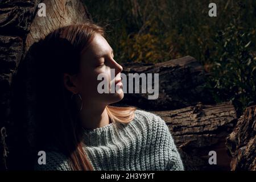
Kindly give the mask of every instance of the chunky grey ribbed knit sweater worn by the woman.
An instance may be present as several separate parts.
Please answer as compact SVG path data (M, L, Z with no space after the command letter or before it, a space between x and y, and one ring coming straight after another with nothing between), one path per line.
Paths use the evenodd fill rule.
M128 124L110 123L84 131L84 152L94 170L184 170L179 152L166 123L158 115L135 110ZM46 164L36 170L71 170L67 158L46 151Z

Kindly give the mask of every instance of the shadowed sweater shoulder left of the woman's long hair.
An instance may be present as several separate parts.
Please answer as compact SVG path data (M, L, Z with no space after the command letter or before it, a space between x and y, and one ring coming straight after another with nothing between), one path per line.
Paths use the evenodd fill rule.
M34 169L36 171L68 171L71 170L68 158L61 152L46 151L45 164L39 164L40 156L35 160Z

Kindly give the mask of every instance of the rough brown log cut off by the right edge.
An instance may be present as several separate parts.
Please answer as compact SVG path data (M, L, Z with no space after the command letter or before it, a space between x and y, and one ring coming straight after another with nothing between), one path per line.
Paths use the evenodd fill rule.
M226 139L226 146L232 155L230 168L235 170L256 170L256 106L247 107L238 119L234 131Z

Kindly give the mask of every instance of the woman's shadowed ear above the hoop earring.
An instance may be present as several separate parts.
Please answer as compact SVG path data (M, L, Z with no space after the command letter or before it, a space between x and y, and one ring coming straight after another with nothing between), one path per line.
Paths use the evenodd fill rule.
M63 82L67 90L69 90L73 94L79 93L76 75L69 75L68 73L64 73Z

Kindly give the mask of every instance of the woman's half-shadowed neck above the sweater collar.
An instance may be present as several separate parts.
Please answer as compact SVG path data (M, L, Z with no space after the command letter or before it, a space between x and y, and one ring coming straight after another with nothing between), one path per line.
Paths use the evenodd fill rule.
M80 111L80 121L84 129L96 129L109 125L110 119L106 106L89 106Z

